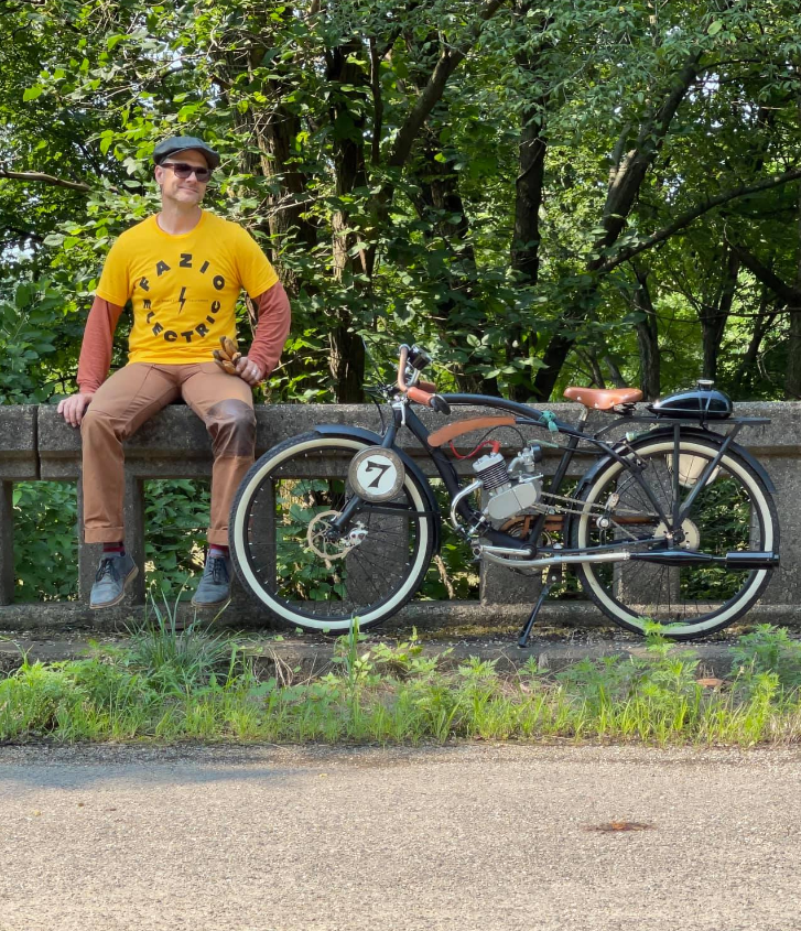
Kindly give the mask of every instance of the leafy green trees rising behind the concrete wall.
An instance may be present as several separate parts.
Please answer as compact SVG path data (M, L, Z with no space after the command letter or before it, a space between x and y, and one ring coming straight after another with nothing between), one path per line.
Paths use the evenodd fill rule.
M410 338L442 387L519 399L801 391L790 0L41 0L0 30L6 403L72 389L102 257L156 208L153 145L195 131L224 159L209 206L291 292L272 399L360 400Z

